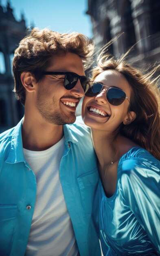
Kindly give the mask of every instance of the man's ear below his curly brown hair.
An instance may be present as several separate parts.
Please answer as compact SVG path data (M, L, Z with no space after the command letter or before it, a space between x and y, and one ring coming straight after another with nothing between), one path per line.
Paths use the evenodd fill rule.
M31 72L22 72L20 79L26 91L35 91L36 79Z

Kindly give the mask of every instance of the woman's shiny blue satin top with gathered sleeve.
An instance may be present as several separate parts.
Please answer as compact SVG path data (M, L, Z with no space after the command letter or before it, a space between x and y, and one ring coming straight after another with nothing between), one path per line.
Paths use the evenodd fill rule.
M129 150L112 197L99 181L93 213L104 256L160 255L160 161L145 149Z

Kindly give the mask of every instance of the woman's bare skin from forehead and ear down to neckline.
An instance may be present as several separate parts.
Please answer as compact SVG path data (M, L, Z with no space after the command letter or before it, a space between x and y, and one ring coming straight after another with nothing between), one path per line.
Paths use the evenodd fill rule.
M96 76L94 81L106 86L95 97L84 97L82 118L85 124L91 127L94 148L99 159L101 180L106 195L110 197L116 189L117 167L120 157L130 148L137 146L133 141L120 135L119 126L122 123L125 125L131 123L136 118L136 114L129 112L127 99L119 106L113 106L107 101L107 86L123 90L130 99L131 86L120 72L106 70ZM90 107L99 109L105 116L90 112ZM114 163L111 164L111 162Z

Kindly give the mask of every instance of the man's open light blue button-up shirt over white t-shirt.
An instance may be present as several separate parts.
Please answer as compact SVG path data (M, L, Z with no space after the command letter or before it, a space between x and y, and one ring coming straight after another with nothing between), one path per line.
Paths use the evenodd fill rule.
M36 198L36 179L23 154L22 120L0 135L0 256L23 256ZM81 256L99 256L92 203L99 180L90 131L64 126L60 180Z

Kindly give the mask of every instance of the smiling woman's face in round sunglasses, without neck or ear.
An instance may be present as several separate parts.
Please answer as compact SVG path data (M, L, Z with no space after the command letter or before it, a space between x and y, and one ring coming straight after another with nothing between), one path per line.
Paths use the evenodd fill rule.
M106 70L96 76L99 83L109 87L123 90L130 101L131 86L125 77L116 70ZM82 118L91 128L114 132L128 117L129 101L125 99L119 106L113 106L107 101L108 87L94 97L84 97L82 105ZM98 111L99 110L99 111Z

